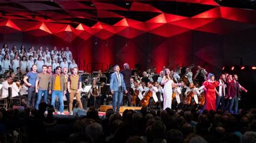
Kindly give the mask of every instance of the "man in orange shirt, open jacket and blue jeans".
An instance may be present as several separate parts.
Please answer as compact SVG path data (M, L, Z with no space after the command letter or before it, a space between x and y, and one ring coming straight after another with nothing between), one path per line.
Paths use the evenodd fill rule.
M58 115L64 115L64 101L63 96L66 94L66 80L65 76L60 74L62 69L58 66L56 67L56 74L52 75L49 84L49 94L52 93L51 105L55 105L56 97L59 98L60 108L57 112Z

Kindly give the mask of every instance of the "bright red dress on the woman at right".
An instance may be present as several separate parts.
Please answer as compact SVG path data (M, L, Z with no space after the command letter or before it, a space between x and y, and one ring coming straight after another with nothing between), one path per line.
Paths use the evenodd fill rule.
M203 85L206 88L206 106L205 109L207 109L208 111L210 110L214 110L215 111L215 104L216 104L216 95L215 95L215 87L219 86L219 82L218 81L205 81L203 83Z

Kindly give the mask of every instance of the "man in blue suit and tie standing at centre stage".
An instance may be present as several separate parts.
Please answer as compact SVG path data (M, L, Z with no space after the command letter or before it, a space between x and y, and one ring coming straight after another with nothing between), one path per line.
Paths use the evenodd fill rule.
M123 92L127 93L124 76L119 73L120 67L118 65L114 66L114 73L110 77L110 90L113 94L113 110L119 113L120 104L122 103ZM117 106L117 110L116 110Z

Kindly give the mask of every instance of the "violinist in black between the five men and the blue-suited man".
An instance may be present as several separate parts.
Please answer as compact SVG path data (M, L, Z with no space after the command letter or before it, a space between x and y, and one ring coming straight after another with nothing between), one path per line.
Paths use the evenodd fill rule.
M92 80L92 88L90 90L90 106L94 106L95 108L98 108L99 107L99 87L98 85L96 84L96 80L93 79Z

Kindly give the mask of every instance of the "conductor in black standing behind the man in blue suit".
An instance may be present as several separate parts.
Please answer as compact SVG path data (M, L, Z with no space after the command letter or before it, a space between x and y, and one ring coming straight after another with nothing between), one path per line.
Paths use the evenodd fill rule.
M131 106L131 83L130 83L130 78L132 76L132 71L130 69L130 66L128 65L128 63L124 63L124 70L121 71L121 74L124 75L124 83L125 83L125 87L127 90L127 102L128 102L128 106ZM125 103L125 98L123 98L123 104Z

